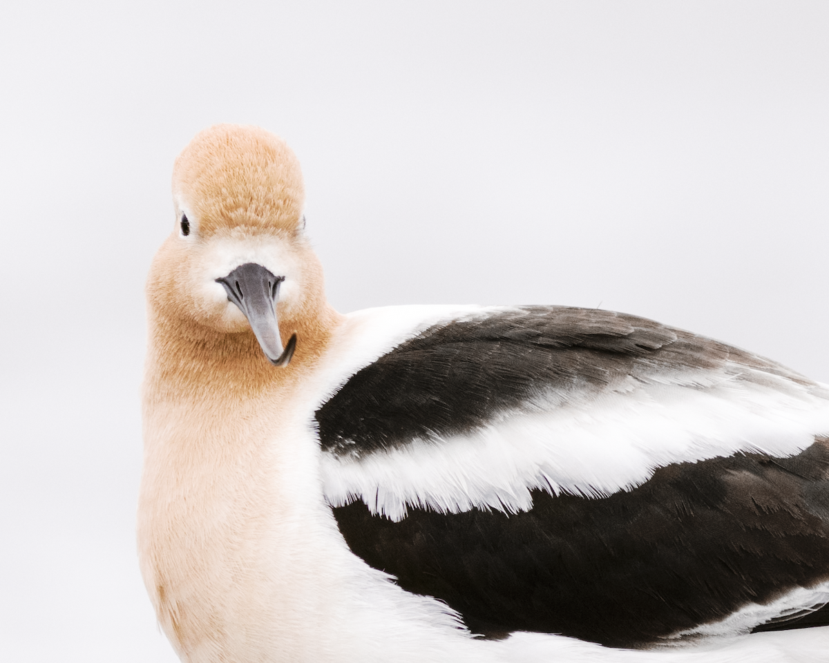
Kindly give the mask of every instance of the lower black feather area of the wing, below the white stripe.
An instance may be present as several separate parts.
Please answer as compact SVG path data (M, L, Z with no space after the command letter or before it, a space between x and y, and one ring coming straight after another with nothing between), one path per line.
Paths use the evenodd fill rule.
M678 463L601 499L534 491L511 515L413 509L393 522L360 501L334 515L355 554L473 632L647 646L829 578L827 444Z

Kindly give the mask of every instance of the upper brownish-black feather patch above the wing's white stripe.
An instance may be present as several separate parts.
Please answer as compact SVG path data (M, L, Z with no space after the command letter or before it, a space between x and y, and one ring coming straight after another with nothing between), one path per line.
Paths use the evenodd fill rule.
M628 376L648 382L724 368L734 380L784 376L817 387L772 361L641 317L521 307L427 329L357 371L315 416L324 451L362 457L469 433L507 411L591 399Z

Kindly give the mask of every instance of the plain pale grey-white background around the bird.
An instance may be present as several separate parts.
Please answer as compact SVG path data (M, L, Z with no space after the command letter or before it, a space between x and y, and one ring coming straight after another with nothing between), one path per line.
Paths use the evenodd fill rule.
M174 661L135 561L143 279L217 122L342 311L638 313L829 381L827 2L0 8L0 659Z

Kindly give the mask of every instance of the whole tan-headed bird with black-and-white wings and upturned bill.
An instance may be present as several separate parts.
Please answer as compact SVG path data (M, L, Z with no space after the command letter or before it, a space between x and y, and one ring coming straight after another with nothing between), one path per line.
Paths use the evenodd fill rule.
M829 386L602 309L343 315L263 128L172 194L138 558L182 661L829 656Z

